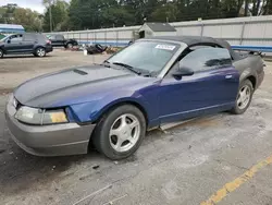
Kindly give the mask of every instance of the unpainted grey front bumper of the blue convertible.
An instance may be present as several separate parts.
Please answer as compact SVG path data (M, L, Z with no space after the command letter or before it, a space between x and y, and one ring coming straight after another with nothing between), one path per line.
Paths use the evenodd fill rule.
M15 112L15 107L9 101L5 109L8 126L14 142L25 152L37 156L78 155L88 152L95 124L26 125L14 118Z

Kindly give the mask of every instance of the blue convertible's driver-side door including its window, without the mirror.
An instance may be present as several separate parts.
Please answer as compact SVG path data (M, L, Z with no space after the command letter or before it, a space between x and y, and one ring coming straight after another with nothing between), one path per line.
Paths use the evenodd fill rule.
M228 50L208 47L186 52L161 82L161 122L226 110L235 104L239 74L232 65ZM189 68L194 74L174 77L175 70L183 68Z

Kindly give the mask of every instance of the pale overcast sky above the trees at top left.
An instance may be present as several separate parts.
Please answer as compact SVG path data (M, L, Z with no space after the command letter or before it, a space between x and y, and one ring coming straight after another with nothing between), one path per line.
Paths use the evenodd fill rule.
M0 7L7 5L8 3L16 3L21 8L29 8L39 13L44 13L45 7L42 5L41 1L42 0L0 0Z

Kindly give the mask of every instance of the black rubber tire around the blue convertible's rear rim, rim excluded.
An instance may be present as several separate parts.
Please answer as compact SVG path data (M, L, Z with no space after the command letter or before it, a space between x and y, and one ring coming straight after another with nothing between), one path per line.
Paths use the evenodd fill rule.
M249 94L249 99L248 99L247 104L242 107L240 104L238 102L238 98L239 98L239 93L245 87L248 87L248 91L250 92L250 94ZM249 80L243 81L240 83L240 85L239 85L239 89L238 89L238 93L237 93L235 106L231 110L231 112L234 113L234 114L242 114L242 113L244 113L248 109L248 107L250 106L250 102L251 102L251 99L252 99L252 95L254 95L252 83Z

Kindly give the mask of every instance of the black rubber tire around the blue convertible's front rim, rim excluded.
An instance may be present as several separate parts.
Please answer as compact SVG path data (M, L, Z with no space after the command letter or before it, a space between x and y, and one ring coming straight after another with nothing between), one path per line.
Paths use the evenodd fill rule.
M110 130L113 126L113 124L116 122L116 120L123 116L123 114L133 114L137 118L139 122L139 137L136 141L136 143L133 145L129 150L126 152L116 152L112 145L110 140ZM129 157L133 155L138 147L140 146L144 137L146 135L146 119L143 114L143 112L132 105L123 105L120 107L116 107L109 112L107 112L98 122L94 135L92 135L92 143L97 150L108 158L112 160L120 160ZM121 145L122 146L122 145Z

